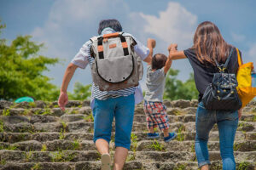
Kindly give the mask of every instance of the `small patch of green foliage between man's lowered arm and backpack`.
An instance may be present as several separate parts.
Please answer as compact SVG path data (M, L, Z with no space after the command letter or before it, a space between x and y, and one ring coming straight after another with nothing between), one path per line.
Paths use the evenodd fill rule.
M80 82L74 84L73 94L68 93L68 99L84 100L90 97L91 85L83 85Z

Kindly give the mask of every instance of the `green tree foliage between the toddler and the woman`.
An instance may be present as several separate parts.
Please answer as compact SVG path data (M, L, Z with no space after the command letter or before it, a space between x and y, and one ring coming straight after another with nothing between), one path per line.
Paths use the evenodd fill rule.
M195 88L194 75L190 73L189 79L182 82L177 79L178 72L173 69L168 71L164 99L197 99L198 91Z

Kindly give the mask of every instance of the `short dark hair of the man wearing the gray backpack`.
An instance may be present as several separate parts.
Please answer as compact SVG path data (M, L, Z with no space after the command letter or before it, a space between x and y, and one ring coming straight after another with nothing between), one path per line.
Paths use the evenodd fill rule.
M123 31L123 28L118 20L101 20L99 24L98 34L101 35L104 28L112 28L114 31Z

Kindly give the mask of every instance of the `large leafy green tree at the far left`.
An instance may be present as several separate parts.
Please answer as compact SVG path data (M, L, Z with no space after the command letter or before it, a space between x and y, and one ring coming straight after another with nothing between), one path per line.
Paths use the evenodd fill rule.
M4 27L0 20L0 36ZM0 99L58 98L59 90L43 72L48 71L47 65L55 65L59 59L39 55L42 47L43 44L32 42L31 36L18 36L10 44L0 37Z

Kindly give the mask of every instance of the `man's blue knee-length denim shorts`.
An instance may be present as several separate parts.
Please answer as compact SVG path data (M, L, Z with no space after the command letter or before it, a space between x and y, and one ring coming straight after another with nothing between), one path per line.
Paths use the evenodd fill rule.
M135 107L134 102L134 94L105 100L95 99L95 105L93 108L93 141L96 142L97 139L105 139L109 143L114 117L115 147L124 147L130 150L131 129Z

